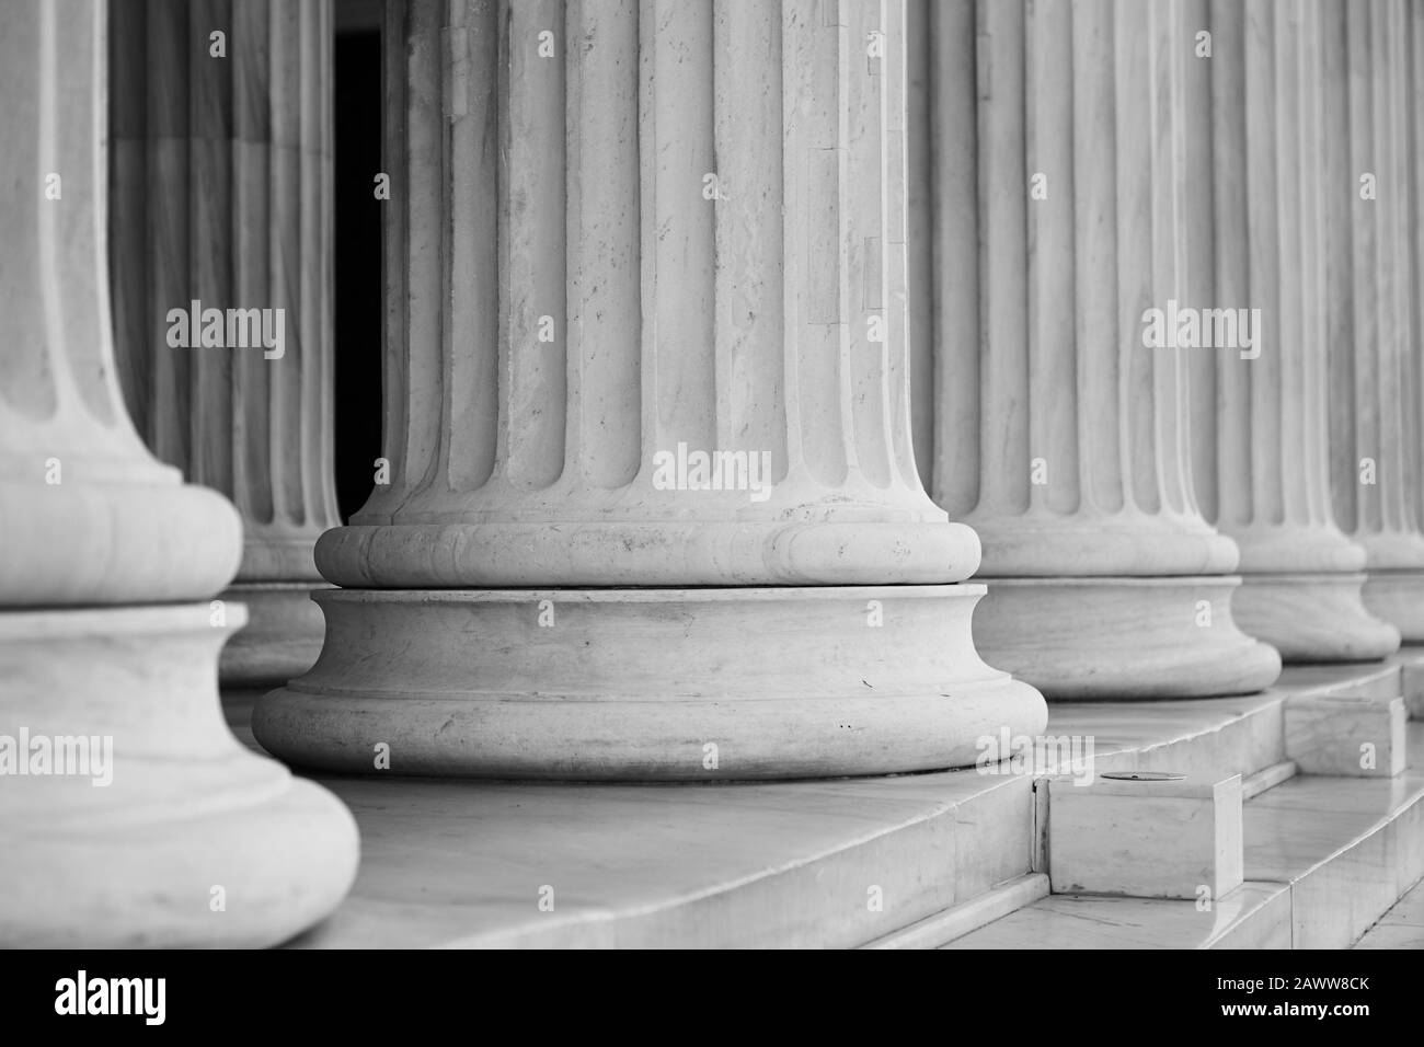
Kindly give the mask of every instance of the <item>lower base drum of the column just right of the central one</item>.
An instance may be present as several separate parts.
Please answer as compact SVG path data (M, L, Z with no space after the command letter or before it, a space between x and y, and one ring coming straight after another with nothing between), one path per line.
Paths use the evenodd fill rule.
M980 652L1048 699L1253 694L1280 675L1232 620L1235 575L984 581Z

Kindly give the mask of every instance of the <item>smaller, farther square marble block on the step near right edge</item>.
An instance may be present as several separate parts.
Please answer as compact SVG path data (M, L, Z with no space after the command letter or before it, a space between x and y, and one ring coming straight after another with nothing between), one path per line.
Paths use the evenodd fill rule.
M1303 695L1284 712L1286 756L1300 773L1393 778L1408 765L1403 698Z

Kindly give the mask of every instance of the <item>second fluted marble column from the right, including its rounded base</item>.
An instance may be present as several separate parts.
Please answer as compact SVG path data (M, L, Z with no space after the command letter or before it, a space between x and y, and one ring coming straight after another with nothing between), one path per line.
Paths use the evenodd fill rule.
M1400 634L1361 603L1366 554L1330 500L1324 9L1218 0L1192 16L1213 50L1188 63L1183 298L1237 328L1235 348L1193 358L1202 510L1240 548L1243 630L1286 661L1383 658Z

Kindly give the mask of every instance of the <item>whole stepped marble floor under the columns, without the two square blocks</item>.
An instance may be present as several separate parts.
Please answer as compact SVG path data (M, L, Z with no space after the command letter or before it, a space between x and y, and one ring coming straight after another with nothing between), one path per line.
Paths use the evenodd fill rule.
M1208 912L1044 897L1042 796L1024 775L745 785L322 775L360 826L360 872L335 916L290 944L1344 947L1424 873L1424 772L1294 776L1280 711L1323 684L1370 689L1378 672L1297 671L1249 698L1054 707L1049 732L1094 732L1099 769L1166 761L1269 778L1246 805L1246 883ZM225 694L234 732L253 748L255 697ZM1410 725L1410 748L1424 768L1424 725ZM1398 926L1371 933L1403 940L1411 924Z

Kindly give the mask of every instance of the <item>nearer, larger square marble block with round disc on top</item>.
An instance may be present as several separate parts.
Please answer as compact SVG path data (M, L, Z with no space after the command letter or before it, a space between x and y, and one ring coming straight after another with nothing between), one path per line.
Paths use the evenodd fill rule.
M1240 775L1111 773L1138 778L1049 779L1054 893L1215 900L1240 886Z

